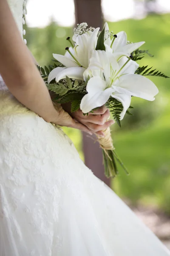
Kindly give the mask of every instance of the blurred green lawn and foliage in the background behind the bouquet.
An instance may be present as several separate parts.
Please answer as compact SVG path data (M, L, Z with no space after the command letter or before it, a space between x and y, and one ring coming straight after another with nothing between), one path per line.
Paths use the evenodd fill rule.
M146 56L139 64L153 66L170 76L170 14L150 14L142 20L123 20L109 23L116 34L125 30L131 42L146 41L142 49L149 49L154 58ZM41 66L51 63L52 53L64 54L66 38L72 36L71 27L51 24L43 29L27 28L27 44ZM134 116L126 116L122 128L113 125L114 145L129 169L127 176L119 169L112 182L115 192L128 198L131 204L159 207L170 215L170 79L152 78L159 94L154 102L133 97ZM79 131L64 128L83 159Z

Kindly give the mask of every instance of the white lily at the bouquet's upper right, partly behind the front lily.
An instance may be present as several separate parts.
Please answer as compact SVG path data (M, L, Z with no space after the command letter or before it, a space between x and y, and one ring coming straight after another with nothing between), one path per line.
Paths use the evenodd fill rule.
M129 55L142 46L145 42L138 42L138 43L130 43L127 44L127 34L124 31L121 31L116 34L117 37L113 37L111 40L110 37L108 37L109 34L109 27L108 23L105 23L105 46L106 49L110 47L112 49L113 53L118 53L121 55L121 53L124 53L125 55ZM109 50L109 49L108 49Z

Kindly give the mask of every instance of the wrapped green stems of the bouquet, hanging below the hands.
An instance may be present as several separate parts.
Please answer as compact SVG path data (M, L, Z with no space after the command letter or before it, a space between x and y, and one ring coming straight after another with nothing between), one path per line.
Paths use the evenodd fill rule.
M119 162L119 164L123 167L125 172L128 174L126 167L123 165L122 161L118 157L115 152L115 148L113 146L113 140L111 137L111 129L107 128L103 131L105 137L97 137L97 141L102 148L103 154L103 163L105 167L105 176L106 177L115 177L118 173L115 159Z

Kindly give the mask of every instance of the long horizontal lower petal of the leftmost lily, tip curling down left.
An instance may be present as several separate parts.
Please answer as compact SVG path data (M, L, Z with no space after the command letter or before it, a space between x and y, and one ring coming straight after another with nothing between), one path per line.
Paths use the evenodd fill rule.
M72 79L83 80L83 73L85 72L84 67L69 67L62 70L56 76L56 82L64 79L66 76Z

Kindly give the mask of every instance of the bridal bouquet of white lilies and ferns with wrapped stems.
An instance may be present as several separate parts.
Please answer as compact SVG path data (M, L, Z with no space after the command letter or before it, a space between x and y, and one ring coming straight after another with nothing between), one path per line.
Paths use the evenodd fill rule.
M153 101L158 93L156 85L146 76L161 76L163 73L152 67L139 67L136 61L148 50L139 50L145 42L127 41L125 32L116 35L109 32L105 23L102 32L99 28L88 28L87 23L77 24L74 36L67 38L71 47L65 55L53 54L57 63L54 66L38 67L48 90L56 93L58 103L71 102L71 111L79 108L84 114L106 104L113 118L120 126L125 113L130 114L131 97ZM117 174L115 159L127 169L113 147L110 128L104 131L105 137L98 137L103 152L105 175Z

